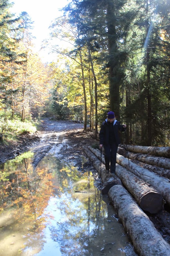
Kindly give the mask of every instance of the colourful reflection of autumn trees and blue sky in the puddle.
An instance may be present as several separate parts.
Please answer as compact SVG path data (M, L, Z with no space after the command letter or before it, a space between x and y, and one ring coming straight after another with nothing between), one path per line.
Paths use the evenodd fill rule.
M22 230L20 235L23 235L24 230L20 249L41 251L45 243L43 230L50 226L47 222L53 220L51 238L60 244L62 253L86 255L88 242L104 230L104 216L107 215L100 192L94 189L91 172L82 174L76 167L61 164L55 157L50 157L49 161L44 158L33 170L31 159L23 155L8 161L0 171L4 177L0 182L1 205L4 212L15 209L12 212L14 221L6 228L7 235L13 230L18 233ZM74 190L87 193L75 193ZM51 196L56 199L55 207L62 216L60 221L51 215L51 209L48 211Z

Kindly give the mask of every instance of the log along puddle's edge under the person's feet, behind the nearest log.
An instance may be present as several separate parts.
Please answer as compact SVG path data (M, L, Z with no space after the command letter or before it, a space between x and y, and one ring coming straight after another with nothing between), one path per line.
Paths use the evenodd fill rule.
M98 155L99 152L97 152L94 148L91 148L96 155ZM116 185L116 184L122 184L121 180L114 174L109 174L105 170L105 165L87 148L83 148L85 154L89 158L89 160L93 163L93 166L97 170L99 176L101 177L101 181L103 183L101 192L103 194L107 194L109 192L109 189ZM100 157L100 156L99 156Z

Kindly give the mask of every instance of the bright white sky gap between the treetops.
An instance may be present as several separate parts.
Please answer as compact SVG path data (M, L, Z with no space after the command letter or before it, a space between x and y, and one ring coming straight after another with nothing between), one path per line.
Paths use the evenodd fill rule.
M36 37L34 41L36 46L36 51L41 47L42 41L49 38L48 27L57 16L61 16L62 12L59 11L60 8L68 4L68 0L11 0L14 3L11 12L16 13L16 15L21 12L27 12L34 21L34 29L32 30L33 36ZM44 61L52 61L53 55L48 54L47 50L42 50L39 52L41 58Z

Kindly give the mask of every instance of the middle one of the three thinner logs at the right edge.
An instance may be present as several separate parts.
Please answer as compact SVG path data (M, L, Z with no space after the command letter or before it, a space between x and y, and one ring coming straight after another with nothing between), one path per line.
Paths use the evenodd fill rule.
M139 153L137 154L137 153L132 153L132 152L128 152L128 158L133 159L133 160L139 160L142 163L146 163L149 165L157 165L157 166L163 167L165 169L170 169L170 159L169 158L160 157L160 156L150 156L150 155L139 154Z

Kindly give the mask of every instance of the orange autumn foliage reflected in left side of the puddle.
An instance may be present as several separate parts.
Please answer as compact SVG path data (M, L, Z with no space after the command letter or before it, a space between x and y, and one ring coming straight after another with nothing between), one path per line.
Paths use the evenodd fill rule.
M41 231L46 226L46 217L43 212L47 207L49 198L53 195L52 174L47 173L47 170L43 168L37 168L36 171L33 171L31 159L25 158L32 156L33 153L23 155L12 161L7 161L4 169L1 168L4 177L6 177L5 181L0 182L1 207L3 213L10 209L11 220L13 220L10 226L5 227L4 231L9 236L14 232L13 230L15 232L18 230L19 234L23 234L23 230L26 230L20 248L32 244L35 237L38 240L36 246L42 248L44 238Z

